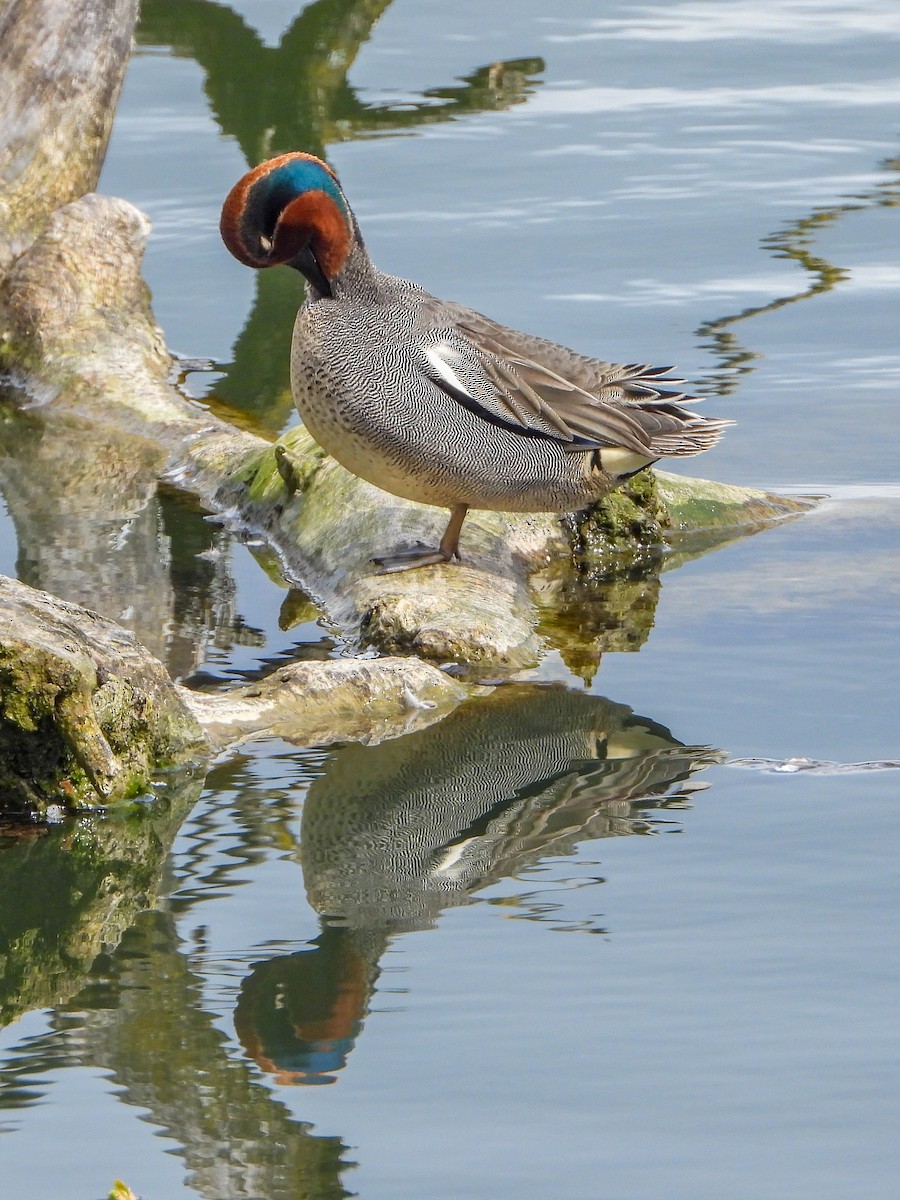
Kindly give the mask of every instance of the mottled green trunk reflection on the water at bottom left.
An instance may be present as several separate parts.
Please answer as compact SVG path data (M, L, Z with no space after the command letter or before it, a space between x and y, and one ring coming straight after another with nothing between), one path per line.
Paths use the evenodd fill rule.
M144 913L90 984L54 1015L53 1033L22 1044L0 1069L0 1110L40 1099L60 1067L109 1072L118 1097L174 1140L187 1182L218 1200L341 1200L353 1165L340 1138L316 1136L228 1052L203 1007L174 923ZM112 1170L127 1174L110 1147Z

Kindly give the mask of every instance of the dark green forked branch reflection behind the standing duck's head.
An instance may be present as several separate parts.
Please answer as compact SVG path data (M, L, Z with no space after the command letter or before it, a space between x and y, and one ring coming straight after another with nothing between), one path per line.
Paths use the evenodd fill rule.
M367 104L347 72L390 0L317 0L276 47L241 17L208 0L145 0L138 42L167 46L204 71L204 90L222 133L248 166L287 150L326 157L335 143L403 132L522 103L536 86L541 59L493 62L458 84L426 89L401 104ZM280 431L293 414L288 347L302 283L294 271L256 271L256 299L223 378L205 402L221 415L252 414L260 431ZM246 418L233 414L238 424Z

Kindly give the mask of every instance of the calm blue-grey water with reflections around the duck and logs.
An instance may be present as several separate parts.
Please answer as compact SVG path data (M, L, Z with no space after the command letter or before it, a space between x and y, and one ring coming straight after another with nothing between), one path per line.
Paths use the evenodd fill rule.
M648 584L588 690L553 654L382 746L245 746L137 832L83 827L77 869L67 830L7 846L5 1002L17 919L46 946L0 1033L4 1195L887 1200L896 773L726 755L900 754L895 5L295 14L143 6L102 187L154 220L192 395L295 420L296 281L216 223L248 160L326 151L380 265L677 362L738 421L703 473L833 498ZM5 430L7 570L96 594L90 545L106 610L197 682L341 652L280 629L258 550L168 493L73 517L52 470L29 490L54 448ZM160 899L95 958L116 854Z

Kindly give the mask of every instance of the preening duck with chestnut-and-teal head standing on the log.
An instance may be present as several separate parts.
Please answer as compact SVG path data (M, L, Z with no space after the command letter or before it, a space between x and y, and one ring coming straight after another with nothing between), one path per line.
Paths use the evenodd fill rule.
M688 407L700 397L672 367L594 359L379 270L312 154L242 175L220 230L245 265L306 280L290 384L312 437L383 491L449 510L437 547L374 557L379 574L460 560L469 509L576 512L732 424Z

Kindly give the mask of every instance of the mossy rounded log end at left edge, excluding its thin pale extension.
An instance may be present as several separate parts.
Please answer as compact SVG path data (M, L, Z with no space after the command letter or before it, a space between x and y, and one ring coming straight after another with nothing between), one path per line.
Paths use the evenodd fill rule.
M97 613L0 577L4 808L91 808L144 791L203 732L160 662Z

